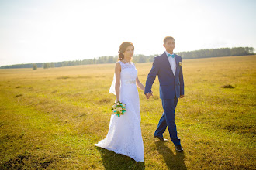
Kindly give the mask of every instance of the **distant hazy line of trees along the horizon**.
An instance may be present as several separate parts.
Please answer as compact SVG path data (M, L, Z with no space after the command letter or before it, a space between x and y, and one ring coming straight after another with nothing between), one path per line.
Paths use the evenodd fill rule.
M235 48L220 48L220 49L200 49L195 51L186 51L176 53L182 56L182 59L197 59L197 58L209 58L209 57L219 57L219 56L247 56L254 55L253 47L235 47ZM147 63L153 62L154 57L159 54L145 56L142 54L134 55L134 63ZM78 65L88 65L88 64L102 64L102 63L116 63L118 56L101 56L98 59L83 59L83 60L73 60L73 61L62 61L62 62L52 62L52 63L27 63L27 64L16 64L11 66L1 66L0 69L14 69L14 68L54 68L61 66L78 66Z

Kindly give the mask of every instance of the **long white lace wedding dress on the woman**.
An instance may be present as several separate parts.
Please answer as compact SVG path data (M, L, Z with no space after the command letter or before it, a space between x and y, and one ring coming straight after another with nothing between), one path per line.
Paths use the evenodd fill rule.
M117 154L133 158L136 162L144 162L144 145L140 129L140 99L136 86L137 69L134 63L122 63L120 101L126 104L126 112L120 117L112 114L109 132L106 138L95 144ZM115 93L115 79L109 93Z

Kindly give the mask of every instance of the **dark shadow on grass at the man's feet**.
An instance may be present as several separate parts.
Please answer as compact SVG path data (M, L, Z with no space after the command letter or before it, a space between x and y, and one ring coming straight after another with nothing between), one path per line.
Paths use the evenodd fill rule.
M156 141L157 151L159 154L163 155L164 162L166 163L168 169L187 169L184 163L184 154L176 152L176 155L165 145L165 142Z

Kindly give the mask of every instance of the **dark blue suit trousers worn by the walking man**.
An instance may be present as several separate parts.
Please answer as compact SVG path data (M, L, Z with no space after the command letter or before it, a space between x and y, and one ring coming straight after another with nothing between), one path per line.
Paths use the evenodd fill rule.
M177 128L175 124L175 108L178 103L178 98L174 99L162 99L162 106L164 113L162 114L157 130L154 132L154 136L163 137L163 133L168 127L171 141L175 146L181 145L181 141L177 136Z

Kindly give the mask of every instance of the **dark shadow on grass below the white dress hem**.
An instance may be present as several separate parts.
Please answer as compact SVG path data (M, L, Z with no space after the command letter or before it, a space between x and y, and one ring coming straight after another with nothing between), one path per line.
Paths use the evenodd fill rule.
M145 169L144 162L136 162L126 155L96 147L102 155L102 162L106 170L109 169Z

